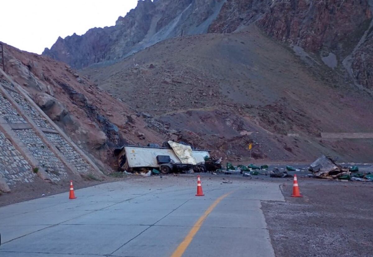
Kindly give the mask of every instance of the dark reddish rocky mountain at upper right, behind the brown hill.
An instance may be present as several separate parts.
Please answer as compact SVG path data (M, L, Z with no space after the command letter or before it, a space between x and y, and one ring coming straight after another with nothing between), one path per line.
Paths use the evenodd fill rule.
M271 37L372 89L372 6L370 0L227 0L209 32L233 32L256 22Z

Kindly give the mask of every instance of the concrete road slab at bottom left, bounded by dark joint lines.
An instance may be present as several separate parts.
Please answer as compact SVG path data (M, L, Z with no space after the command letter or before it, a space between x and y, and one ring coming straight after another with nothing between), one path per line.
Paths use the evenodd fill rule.
M57 225L1 245L1 251L110 254L148 226ZM1 253L0 251L0 253Z

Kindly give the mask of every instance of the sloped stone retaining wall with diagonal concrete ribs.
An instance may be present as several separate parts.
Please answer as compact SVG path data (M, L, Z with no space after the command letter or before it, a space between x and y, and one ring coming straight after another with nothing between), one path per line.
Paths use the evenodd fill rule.
M0 74L6 78L0 80L0 178L13 185L38 177L57 182L78 174L100 176L94 162L28 93L1 70Z

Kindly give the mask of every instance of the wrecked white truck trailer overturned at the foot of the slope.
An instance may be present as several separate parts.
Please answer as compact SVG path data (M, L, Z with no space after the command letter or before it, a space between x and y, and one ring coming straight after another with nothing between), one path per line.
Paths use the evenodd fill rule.
M134 172L144 168L156 168L162 174L172 171L206 171L205 160L210 158L209 150L193 150L191 146L169 141L169 147L157 145L124 145L114 151L118 169Z

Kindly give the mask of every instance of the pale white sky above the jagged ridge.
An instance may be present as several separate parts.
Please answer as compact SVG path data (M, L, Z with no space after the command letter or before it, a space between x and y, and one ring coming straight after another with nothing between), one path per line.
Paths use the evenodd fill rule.
M115 25L137 0L1 0L0 41L41 54L59 36Z

